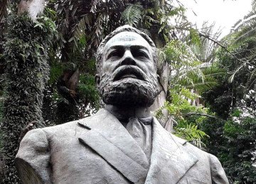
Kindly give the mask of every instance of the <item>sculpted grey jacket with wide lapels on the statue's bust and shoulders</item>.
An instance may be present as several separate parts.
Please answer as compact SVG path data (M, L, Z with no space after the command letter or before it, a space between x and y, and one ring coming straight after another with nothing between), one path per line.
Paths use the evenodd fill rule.
M28 131L16 155L26 184L228 183L218 158L152 122L151 161L110 112Z

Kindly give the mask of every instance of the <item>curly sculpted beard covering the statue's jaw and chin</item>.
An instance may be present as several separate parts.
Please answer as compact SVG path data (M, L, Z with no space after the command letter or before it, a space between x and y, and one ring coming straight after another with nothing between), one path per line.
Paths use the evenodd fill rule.
M105 74L99 90L105 104L149 107L159 94L159 84L155 75L148 76L146 81L127 77L113 82L112 76Z

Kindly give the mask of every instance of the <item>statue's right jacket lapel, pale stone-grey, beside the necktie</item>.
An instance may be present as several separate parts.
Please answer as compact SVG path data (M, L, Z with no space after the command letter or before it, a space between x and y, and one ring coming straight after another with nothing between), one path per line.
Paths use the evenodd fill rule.
M198 162L198 158L188 153L174 135L166 131L154 119L152 132L152 153L146 183L178 183L186 172Z

